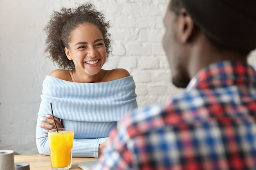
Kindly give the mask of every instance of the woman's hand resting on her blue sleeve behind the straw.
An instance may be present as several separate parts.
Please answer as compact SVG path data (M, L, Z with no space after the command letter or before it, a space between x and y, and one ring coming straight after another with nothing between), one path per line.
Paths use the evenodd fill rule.
M40 121L43 121L43 122L46 122L46 123L49 123L49 124L39 124L39 126L41 128L47 128L49 130L55 129L54 121L52 119L52 115L46 115L46 117L47 118L41 118ZM58 117L55 117L55 116L54 116L54 119L55 119L57 128L64 128L64 126L61 123L61 119L59 119ZM49 130L43 129L43 132L48 134Z

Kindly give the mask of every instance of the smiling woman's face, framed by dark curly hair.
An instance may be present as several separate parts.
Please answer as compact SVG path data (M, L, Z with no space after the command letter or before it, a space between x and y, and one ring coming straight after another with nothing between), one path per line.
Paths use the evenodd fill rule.
M65 47L69 60L73 60L76 72L96 75L106 62L106 46L98 27L83 23L71 33L69 49Z

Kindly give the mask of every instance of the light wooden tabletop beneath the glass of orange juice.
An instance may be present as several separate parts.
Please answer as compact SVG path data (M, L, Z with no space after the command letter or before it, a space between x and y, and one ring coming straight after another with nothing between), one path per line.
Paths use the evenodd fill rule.
M72 157L72 167L70 170L82 170L78 167L79 162L94 161L97 158ZM14 162L29 163L30 170L51 170L50 157L45 155L15 155Z

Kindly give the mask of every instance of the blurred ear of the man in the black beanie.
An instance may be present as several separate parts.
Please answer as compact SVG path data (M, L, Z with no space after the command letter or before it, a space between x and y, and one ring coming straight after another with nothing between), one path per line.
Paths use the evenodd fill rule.
M195 24L185 9L180 10L180 41L182 43L188 42L193 38L195 33Z

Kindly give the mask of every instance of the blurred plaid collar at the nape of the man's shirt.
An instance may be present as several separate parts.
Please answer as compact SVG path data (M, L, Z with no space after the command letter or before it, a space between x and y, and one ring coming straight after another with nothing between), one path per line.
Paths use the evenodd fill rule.
M195 88L211 88L216 86L230 86L232 84L246 84L256 80L256 72L246 62L223 61L210 64L202 68L191 79L185 91Z

